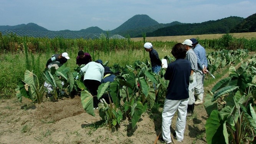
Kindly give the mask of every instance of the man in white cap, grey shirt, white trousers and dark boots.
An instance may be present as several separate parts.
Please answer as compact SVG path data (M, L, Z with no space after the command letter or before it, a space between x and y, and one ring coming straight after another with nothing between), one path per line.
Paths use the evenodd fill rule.
M192 116L194 107L195 107L195 96L194 96L194 88L197 85L196 82L196 71L197 71L197 56L192 49L192 41L186 39L183 43L185 49L187 51L185 59L191 62L191 72L189 77L189 87L188 87L188 109L187 116Z

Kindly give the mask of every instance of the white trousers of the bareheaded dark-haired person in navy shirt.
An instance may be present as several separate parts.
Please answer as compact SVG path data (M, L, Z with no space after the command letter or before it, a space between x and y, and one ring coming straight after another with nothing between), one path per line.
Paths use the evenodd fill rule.
M172 141L170 126L172 124L172 117L176 111L178 111L178 118L175 128L176 138L178 141L183 141L186 126L187 108L188 98L185 100L165 99L162 113L162 136L164 141Z

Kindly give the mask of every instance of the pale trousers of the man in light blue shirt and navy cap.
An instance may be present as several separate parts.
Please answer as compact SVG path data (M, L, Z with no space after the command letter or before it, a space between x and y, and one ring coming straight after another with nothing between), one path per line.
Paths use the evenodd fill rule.
M203 81L205 79L205 74L201 70L196 71L196 78L197 78L197 86L195 87L195 94L199 95L203 93Z

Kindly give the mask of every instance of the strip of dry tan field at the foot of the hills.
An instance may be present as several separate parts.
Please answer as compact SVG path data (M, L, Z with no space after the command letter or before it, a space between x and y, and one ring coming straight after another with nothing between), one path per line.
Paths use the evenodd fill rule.
M159 36L159 37L146 37L146 41L177 41L183 42L185 39L199 38L199 39L218 39L223 34L201 34L201 35L187 35L187 36ZM256 38L254 33L231 33L235 38ZM131 38L133 41L143 41L143 38Z

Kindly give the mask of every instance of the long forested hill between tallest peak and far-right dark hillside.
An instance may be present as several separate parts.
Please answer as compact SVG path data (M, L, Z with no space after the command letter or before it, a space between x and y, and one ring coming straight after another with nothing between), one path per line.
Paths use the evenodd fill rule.
M244 18L230 16L216 21L206 21L203 23L193 23L184 25L174 25L157 29L154 32L146 33L147 37L152 36L181 36L195 34L218 34L230 33L230 29L241 23ZM138 36L141 37L141 36Z

